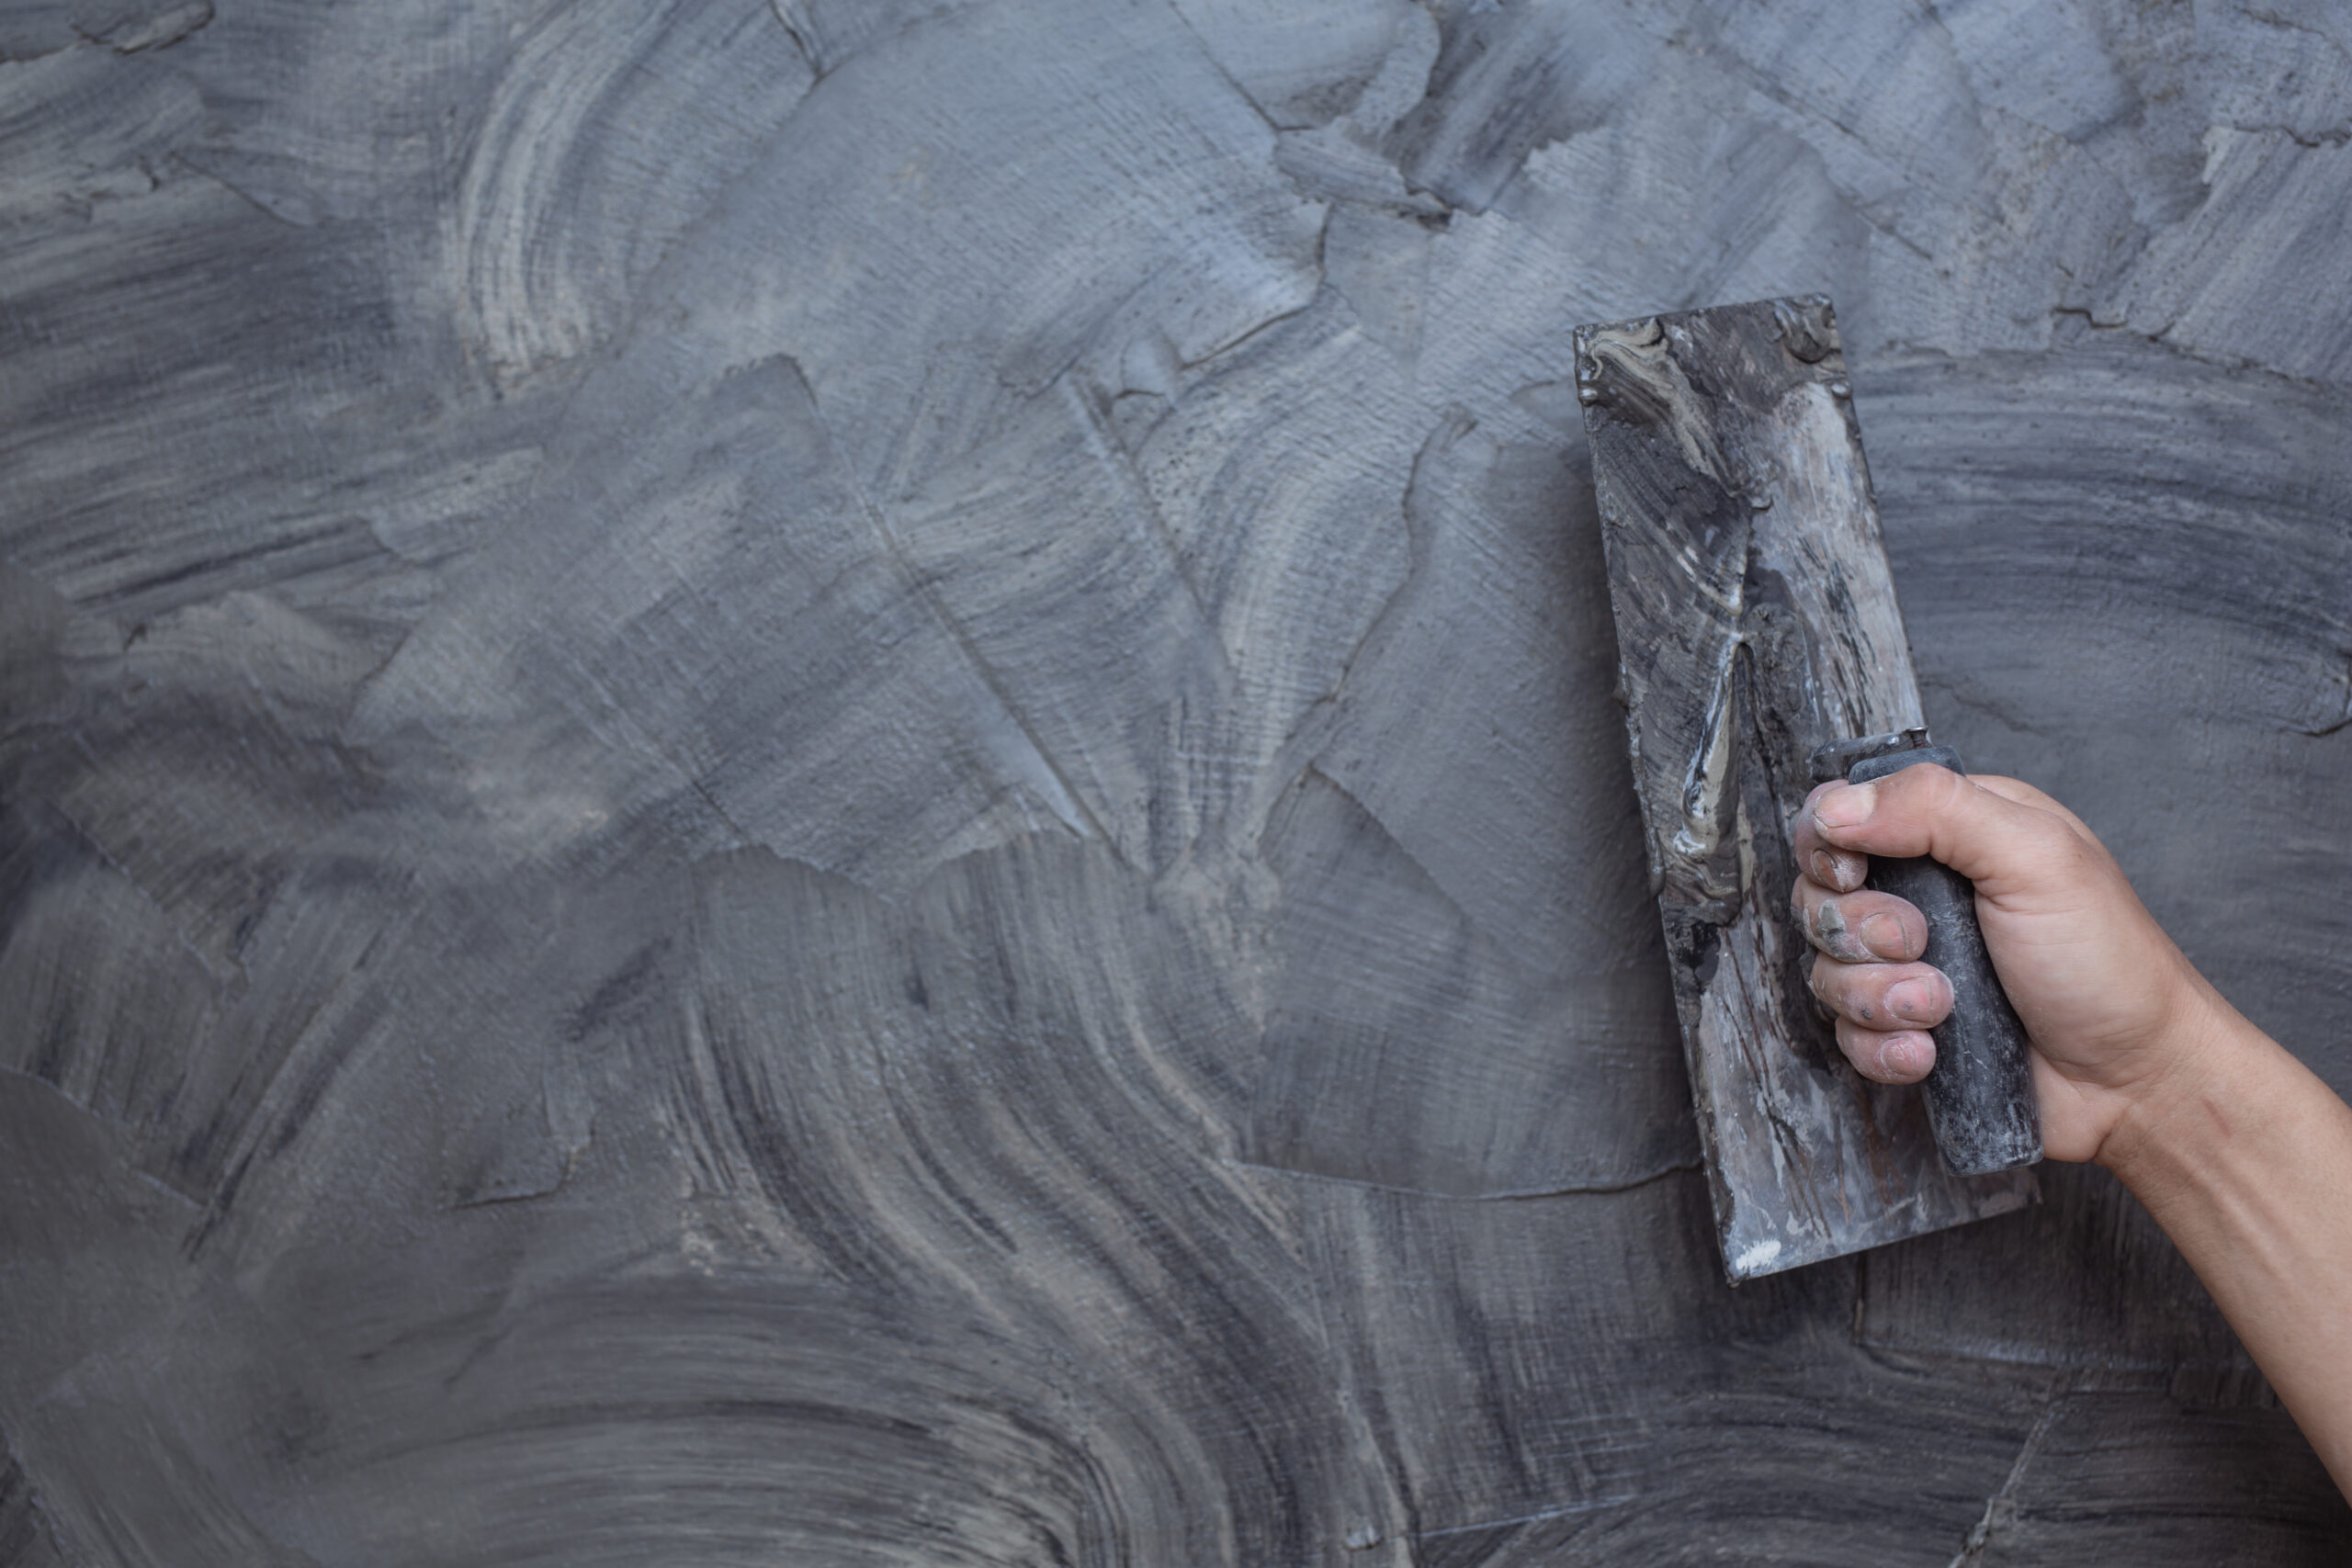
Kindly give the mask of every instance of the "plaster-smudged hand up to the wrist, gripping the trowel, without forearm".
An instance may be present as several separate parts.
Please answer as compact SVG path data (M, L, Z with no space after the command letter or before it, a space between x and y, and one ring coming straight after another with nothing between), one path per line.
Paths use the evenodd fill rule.
M1926 919L1860 891L1865 856L1933 856L1976 884L1976 919L2034 1044L2042 1143L2096 1159L2133 1103L2197 1056L2227 1004L2140 905L2114 856L2056 799L2016 778L1917 764L1867 785L1825 783L1790 835L1813 994L1856 1072L1917 1084L1926 1030L1952 987L1919 961Z

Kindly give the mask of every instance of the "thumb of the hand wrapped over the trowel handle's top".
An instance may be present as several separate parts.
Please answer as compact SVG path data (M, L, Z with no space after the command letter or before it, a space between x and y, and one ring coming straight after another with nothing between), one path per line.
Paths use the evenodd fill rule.
M2046 872L2053 853L2072 858L2082 849L2063 818L1933 762L1860 785L1832 783L1806 811L1823 844L1870 856L1933 856L1987 896Z

